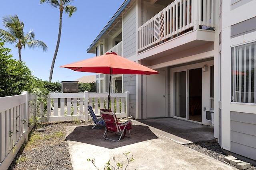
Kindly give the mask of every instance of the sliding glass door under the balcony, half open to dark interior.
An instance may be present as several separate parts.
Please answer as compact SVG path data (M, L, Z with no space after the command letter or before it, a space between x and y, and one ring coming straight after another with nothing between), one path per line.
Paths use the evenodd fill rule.
M202 122L202 68L174 73L174 115Z

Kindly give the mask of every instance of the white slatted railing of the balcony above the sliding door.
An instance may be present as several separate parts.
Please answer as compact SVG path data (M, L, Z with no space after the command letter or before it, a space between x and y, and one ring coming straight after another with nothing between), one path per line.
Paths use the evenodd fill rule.
M195 25L214 27L214 0L175 0L138 28L138 52L172 39Z

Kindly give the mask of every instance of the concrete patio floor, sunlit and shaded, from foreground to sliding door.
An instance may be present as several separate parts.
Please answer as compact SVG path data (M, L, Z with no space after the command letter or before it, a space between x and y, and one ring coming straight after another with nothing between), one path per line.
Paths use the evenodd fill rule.
M104 128L92 125L66 127L73 170L103 170L106 162L127 165L124 153L134 161L127 170L237 170L182 144L214 139L213 128L173 118L132 120L131 138L105 140ZM128 134L126 133L126 136ZM114 133L108 137L118 138ZM116 163L112 159L115 157Z

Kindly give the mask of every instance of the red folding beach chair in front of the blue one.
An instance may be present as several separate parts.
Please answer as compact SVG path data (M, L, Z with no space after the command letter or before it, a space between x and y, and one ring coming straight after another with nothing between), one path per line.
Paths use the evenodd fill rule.
M105 132L104 132L104 135L103 135L104 139L108 139L110 141L118 142L118 141L120 141L120 139L123 139L125 137L126 130L129 131L129 135L131 137L131 133L130 133L130 129L132 129L132 127L131 127L132 121L131 120L128 120L128 121L126 121L124 123L119 123L118 119L116 117L116 114L114 113L114 111L108 110L108 109L100 109L100 115L101 115L103 121L105 121L105 124L106 124ZM112 118L114 119L114 122L108 123L110 121L110 119L108 119L106 117L106 115L112 116ZM116 131L111 131L110 129L112 129L112 128L109 125L110 126L114 125L116 127ZM129 129L127 129L128 126L130 126ZM116 135L120 135L119 139L118 140L114 140L114 139L108 138L108 132L109 131L115 132Z

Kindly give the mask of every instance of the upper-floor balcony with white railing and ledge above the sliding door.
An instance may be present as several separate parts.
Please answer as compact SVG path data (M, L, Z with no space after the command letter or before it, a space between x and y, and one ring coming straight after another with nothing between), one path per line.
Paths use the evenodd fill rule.
M138 28L138 53L169 40L179 39L181 35L182 39L161 50L162 57L170 49L175 53L181 49L214 42L214 27L214 0L175 0ZM138 59L154 54L159 56L159 50L150 53L140 55Z

